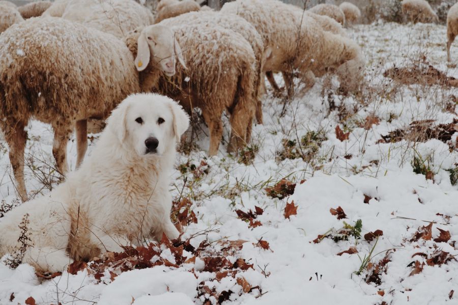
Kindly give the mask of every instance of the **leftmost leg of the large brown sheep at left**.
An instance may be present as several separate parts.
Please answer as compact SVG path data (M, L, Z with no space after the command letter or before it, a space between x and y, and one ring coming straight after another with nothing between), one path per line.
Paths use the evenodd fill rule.
M24 152L27 139L27 132L24 130L25 125L18 122L11 131L5 133L6 141L10 146L9 155L14 178L16 179L16 189L22 201L27 200L27 190L24 181Z

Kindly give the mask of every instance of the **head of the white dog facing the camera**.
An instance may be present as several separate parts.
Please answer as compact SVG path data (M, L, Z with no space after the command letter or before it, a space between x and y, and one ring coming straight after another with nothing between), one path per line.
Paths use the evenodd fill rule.
M152 93L130 95L107 122L121 146L140 157L161 156L175 148L188 126L189 117L177 102Z

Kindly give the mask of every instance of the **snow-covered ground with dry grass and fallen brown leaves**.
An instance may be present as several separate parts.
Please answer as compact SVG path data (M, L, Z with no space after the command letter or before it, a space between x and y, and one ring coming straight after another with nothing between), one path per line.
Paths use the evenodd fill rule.
M165 241L150 247L153 267L121 272L106 264L97 274L103 262L89 263L50 280L26 264L0 264L0 304L29 297L37 304L458 303L458 185L448 171L458 166L458 131L445 142L380 141L415 121L434 120L434 127L457 117L456 88L404 86L383 76L393 64L414 62L457 76L446 63L445 26L375 23L349 32L366 54L362 94L340 96L335 79L323 80L282 115L282 100L270 92L244 157L224 146L211 158L199 149L180 155L170 190L177 202L189 200L187 215L197 220L179 211L189 241L180 255ZM207 149L206 128L196 131L198 147ZM59 181L50 170L52 132L32 122L28 136L27 188L45 193ZM16 202L12 170L6 144L0 148L0 193L9 205ZM75 148L70 142L72 167ZM296 186L266 191L281 179ZM280 199L284 188L292 195ZM376 230L383 235L368 234ZM353 254L338 255L347 250Z

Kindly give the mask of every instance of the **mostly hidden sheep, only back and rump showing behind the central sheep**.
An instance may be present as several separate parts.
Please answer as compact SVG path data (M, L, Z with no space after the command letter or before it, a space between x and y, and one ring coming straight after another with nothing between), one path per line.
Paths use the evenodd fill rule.
M174 18L174 22L185 23L201 23L201 24L218 24L218 26L224 27L224 29L232 30L239 33L243 38L250 43L251 48L254 52L256 59L256 81L254 84L255 98L257 100L256 107L256 122L258 124L263 123L263 112L261 99L264 94L263 85L263 73L262 69L264 62L266 61L266 51L264 49L264 43L261 35L257 33L256 29L245 19L233 14L220 14L218 12L190 12Z

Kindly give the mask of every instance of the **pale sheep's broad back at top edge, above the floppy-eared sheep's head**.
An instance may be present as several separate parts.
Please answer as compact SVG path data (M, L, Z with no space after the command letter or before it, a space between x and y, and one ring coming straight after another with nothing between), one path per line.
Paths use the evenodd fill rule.
M123 38L153 23L153 14L134 0L70 0L62 18Z

